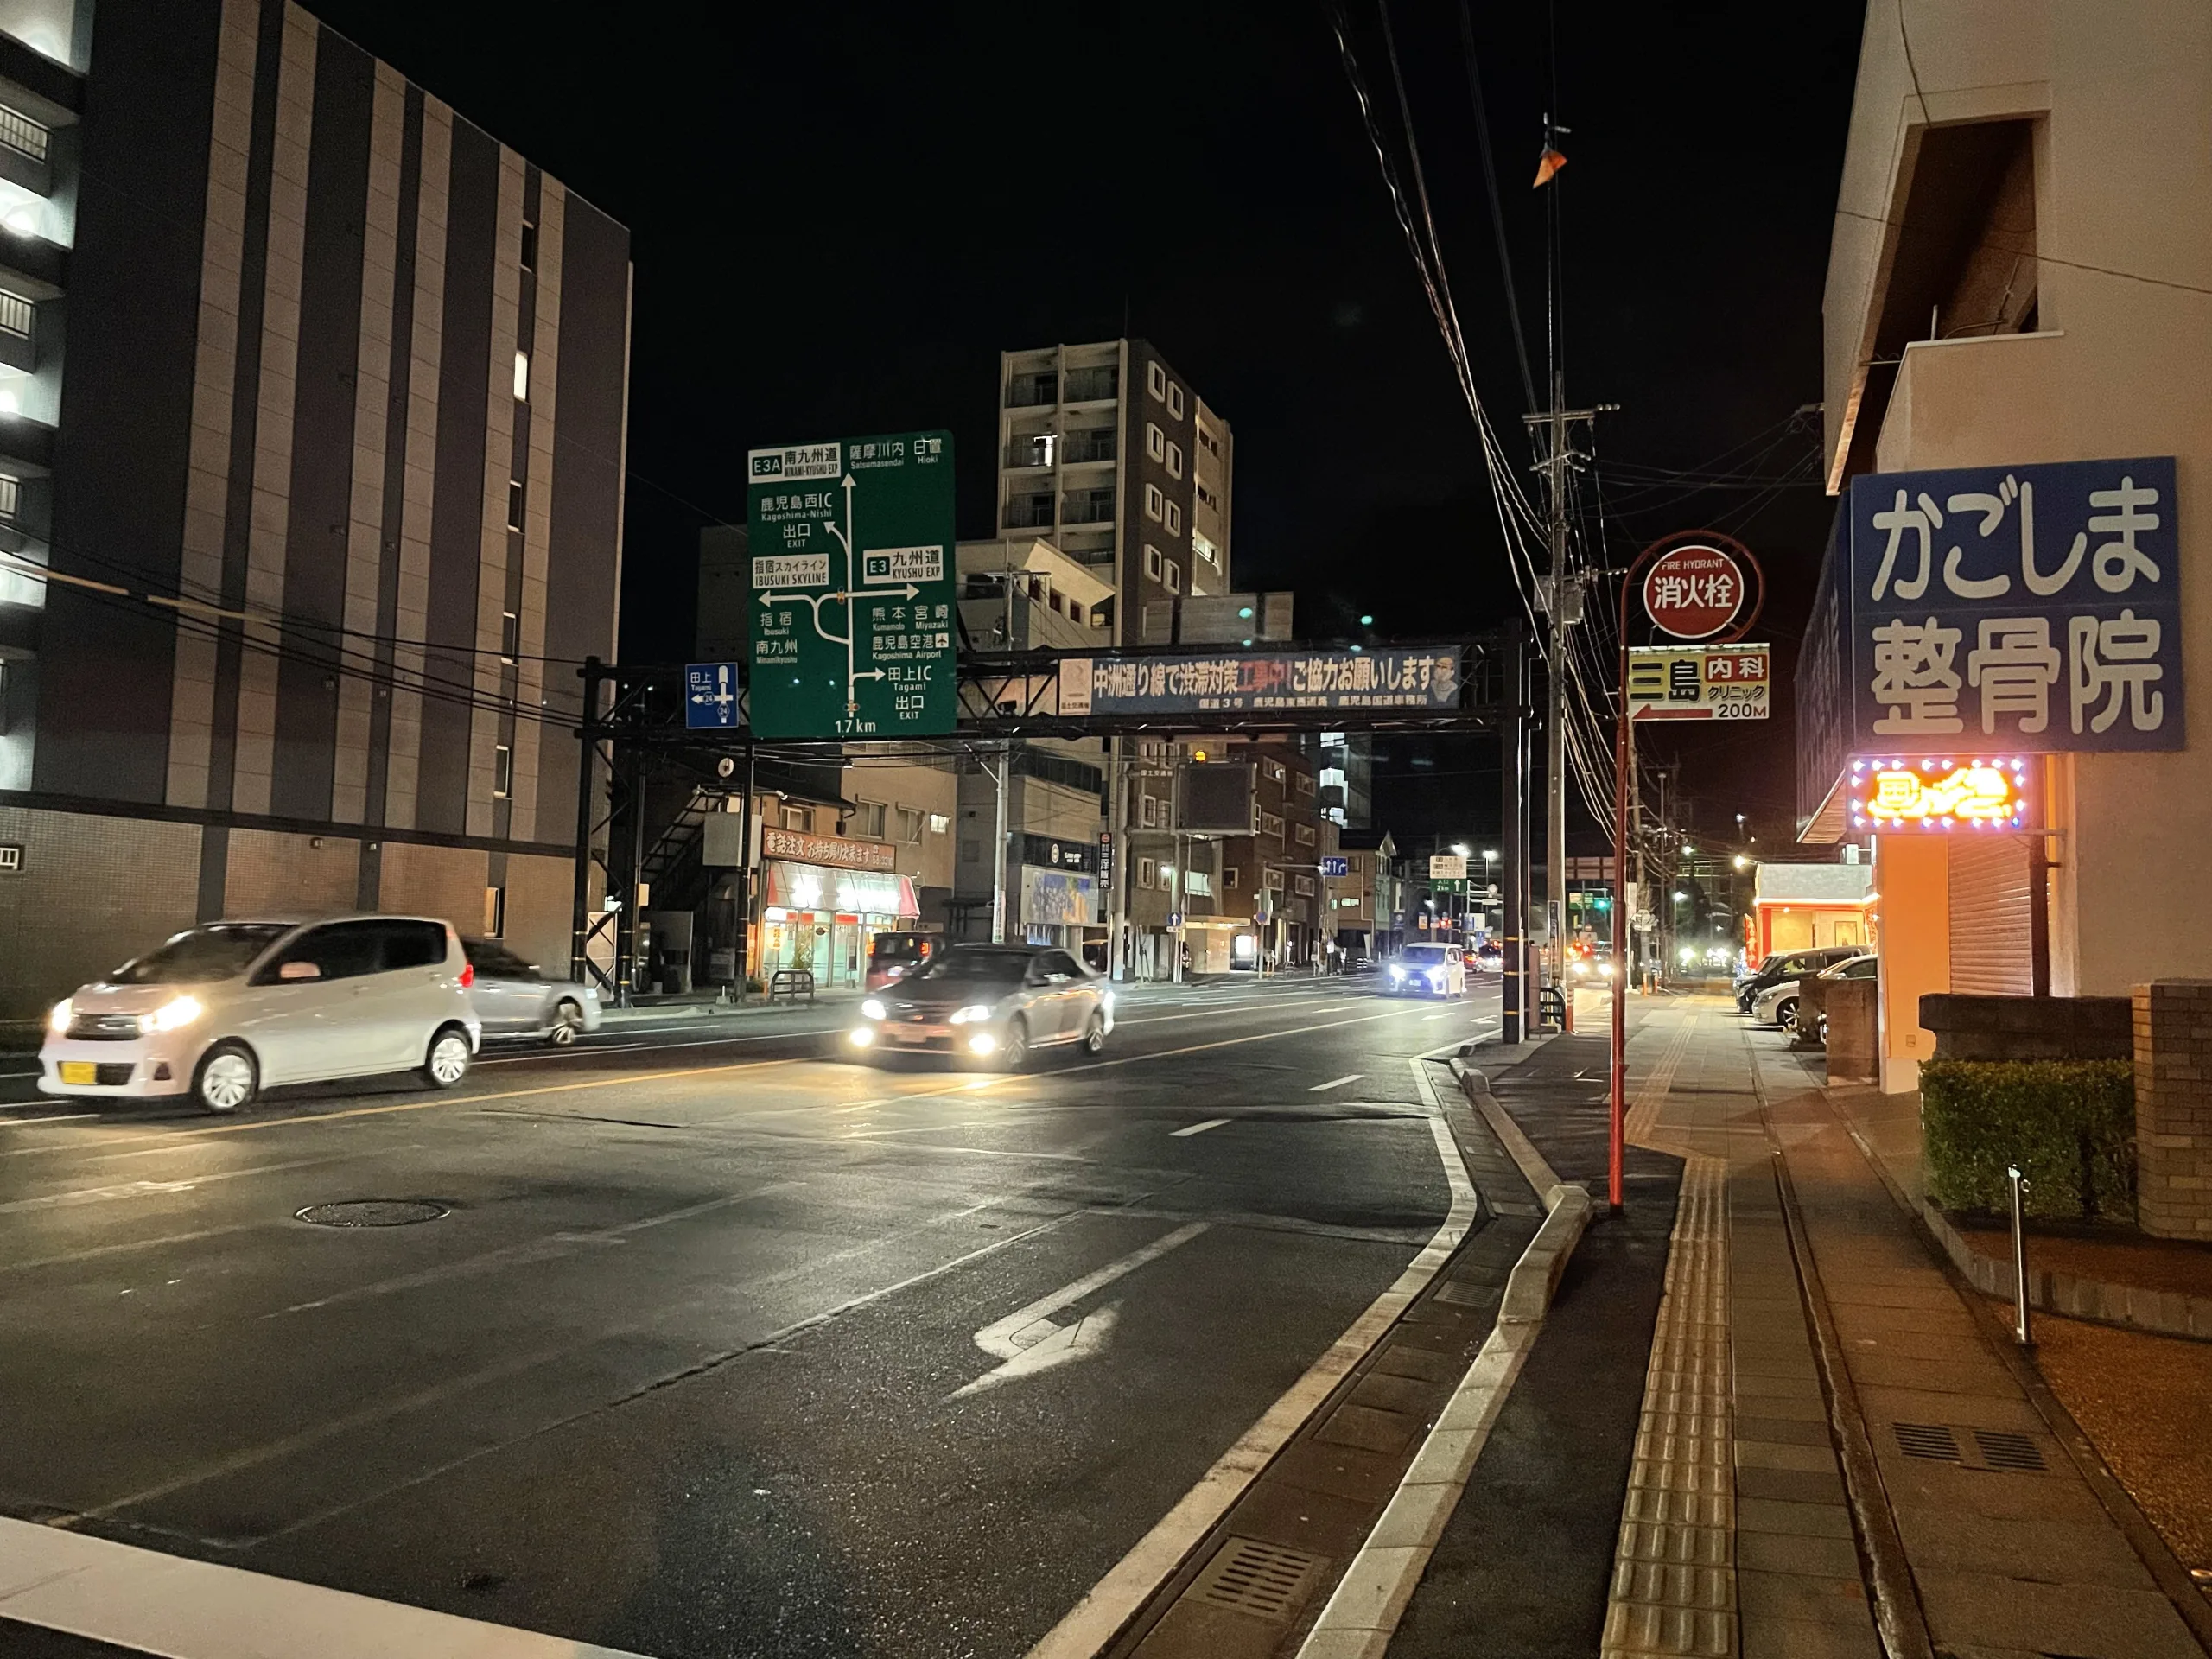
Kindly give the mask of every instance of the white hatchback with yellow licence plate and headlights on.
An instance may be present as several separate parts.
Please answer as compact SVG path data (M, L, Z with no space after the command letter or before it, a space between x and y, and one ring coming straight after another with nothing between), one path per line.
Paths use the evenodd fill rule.
M460 938L425 916L208 922L53 1004L46 1095L192 1095L234 1113L263 1088L420 1073L451 1088L482 1022Z

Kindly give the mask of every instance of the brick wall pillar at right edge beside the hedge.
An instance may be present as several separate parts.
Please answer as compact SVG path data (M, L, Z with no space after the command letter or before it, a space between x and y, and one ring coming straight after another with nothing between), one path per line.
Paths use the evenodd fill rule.
M2212 980L2135 987L2137 1217L2212 1241Z

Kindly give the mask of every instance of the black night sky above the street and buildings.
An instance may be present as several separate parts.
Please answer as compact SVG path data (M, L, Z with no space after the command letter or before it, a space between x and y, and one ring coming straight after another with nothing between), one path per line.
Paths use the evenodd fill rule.
M697 529L743 522L748 447L949 427L960 535L991 535L998 352L1121 332L1232 425L1237 580L1294 588L1301 635L1509 615L1473 422L1318 0L312 9L633 230L626 659L688 655ZM1378 13L1345 11L1405 175ZM1615 509L1606 546L1626 562L1710 524L1774 580L1774 719L1646 748L1681 757L1692 827L1745 812L1763 847L1792 825L1787 675L1829 502L1659 476L1717 458L1816 476L1818 418L1792 429L1792 411L1820 398L1860 18L1840 0L1473 7L1540 387L1528 179L1544 111L1573 128L1559 319L1568 403L1621 405L1588 484ZM1460 9L1400 0L1391 22L1478 389L1520 458ZM1376 794L1422 845L1486 838L1495 743L1385 741Z

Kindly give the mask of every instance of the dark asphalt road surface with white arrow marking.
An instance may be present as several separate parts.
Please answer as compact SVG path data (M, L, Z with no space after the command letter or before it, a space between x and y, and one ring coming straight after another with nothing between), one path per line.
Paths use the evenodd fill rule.
M1022 1655L1429 1243L1409 1060L1495 1009L1279 980L1018 1077L849 1064L823 1011L239 1119L0 1095L0 1511L648 1655ZM296 1217L354 1199L445 1214Z

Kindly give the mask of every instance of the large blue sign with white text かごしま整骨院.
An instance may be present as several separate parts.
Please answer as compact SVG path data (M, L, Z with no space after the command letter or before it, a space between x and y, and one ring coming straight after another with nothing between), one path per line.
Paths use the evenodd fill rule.
M2183 745L2174 462L1851 480L1851 750Z

